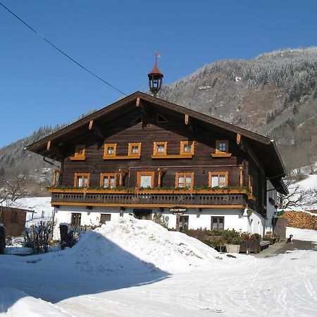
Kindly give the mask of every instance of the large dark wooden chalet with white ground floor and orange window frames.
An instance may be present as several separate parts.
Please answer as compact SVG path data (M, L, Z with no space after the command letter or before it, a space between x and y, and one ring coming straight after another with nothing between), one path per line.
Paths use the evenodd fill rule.
M287 190L272 139L142 92L27 149L61 163L51 204L73 224L156 214L171 228L263 234Z

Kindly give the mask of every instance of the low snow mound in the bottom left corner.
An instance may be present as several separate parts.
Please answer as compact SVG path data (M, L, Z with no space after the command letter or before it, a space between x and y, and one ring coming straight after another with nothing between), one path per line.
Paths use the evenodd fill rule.
M13 288L0 287L0 315L1 316L32 316L32 317L67 317L73 316L63 313L51 303L42 299L30 297L25 292Z

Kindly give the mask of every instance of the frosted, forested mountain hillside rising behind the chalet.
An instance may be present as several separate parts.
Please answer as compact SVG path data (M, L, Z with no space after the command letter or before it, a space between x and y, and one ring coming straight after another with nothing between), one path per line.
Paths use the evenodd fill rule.
M316 161L316 78L317 47L287 49L211 63L163 87L159 97L273 137L290 170ZM59 128L41 128L0 149L0 174L38 175L39 169L51 168L24 148Z

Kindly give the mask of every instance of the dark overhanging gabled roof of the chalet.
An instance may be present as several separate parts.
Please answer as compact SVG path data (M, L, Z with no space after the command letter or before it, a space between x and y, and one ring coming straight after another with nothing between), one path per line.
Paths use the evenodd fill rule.
M286 175L285 166L282 163L282 159L280 158L280 154L278 153L278 149L276 148L273 139L239 128L236 125L225 123L222 120L212 118L211 116L193 111L189 108L185 108L184 106L152 97L149 94L144 94L143 92L130 94L128 97L120 99L119 101L116 101L115 103L86 116L85 118L77 120L75 123L68 125L66 128L58 130L51 135L30 144L27 149L37 154L41 154L42 156L56 159L57 156L54 154L54 147L48 149L48 142L58 146L59 144L65 143L71 135L80 135L83 130L87 131L87 127L92 120L112 120L113 118L122 116L123 113L131 110L132 105L135 106L138 98L147 104L151 104L151 106L156 106L156 108L166 109L178 115L186 114L189 118L194 119L197 122L204 123L204 125L213 128L216 127L223 132L241 135L242 139L247 140L247 143L257 154L259 161L268 175L268 178L271 178L271 182L274 183L275 187L279 187L278 185L280 179Z

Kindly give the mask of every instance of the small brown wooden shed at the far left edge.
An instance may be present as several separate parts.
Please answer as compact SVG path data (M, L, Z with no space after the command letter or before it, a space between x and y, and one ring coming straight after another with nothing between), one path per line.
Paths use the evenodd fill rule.
M0 206L0 223L4 224L6 235L23 235L27 209Z

